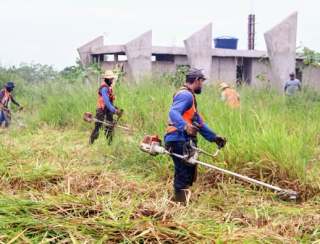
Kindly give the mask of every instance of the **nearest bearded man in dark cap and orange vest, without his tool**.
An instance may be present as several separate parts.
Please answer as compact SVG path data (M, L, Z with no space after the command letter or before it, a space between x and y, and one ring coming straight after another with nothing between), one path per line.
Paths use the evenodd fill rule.
M206 80L201 70L191 69L186 75L186 83L173 96L169 111L169 121L164 141L172 153L190 154L191 143L196 146L199 132L207 141L224 147L226 139L216 135L201 118L197 109L195 94L200 94ZM175 202L187 204L191 196L189 187L196 180L197 166L172 156L174 162Z

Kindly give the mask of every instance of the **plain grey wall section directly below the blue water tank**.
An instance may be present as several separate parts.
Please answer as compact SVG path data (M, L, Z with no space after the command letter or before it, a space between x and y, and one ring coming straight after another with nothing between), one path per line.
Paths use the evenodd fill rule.
M235 85L237 78L236 58L212 57L211 80L214 83L227 82Z

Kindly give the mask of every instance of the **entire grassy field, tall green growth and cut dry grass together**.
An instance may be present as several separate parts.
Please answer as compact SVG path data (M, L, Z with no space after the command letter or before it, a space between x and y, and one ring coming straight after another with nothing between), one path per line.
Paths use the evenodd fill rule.
M268 90L241 90L230 110L215 87L199 96L199 109L228 146L209 163L298 190L284 202L213 170L201 168L192 201L170 203L173 165L139 151L144 134L163 135L175 87L166 80L118 85L122 124L107 146L88 145L97 84L56 81L24 85L0 141L0 242L2 243L310 243L320 239L318 94L294 101ZM32 95L31 95L32 94ZM20 124L21 125L21 124ZM102 133L101 133L102 134ZM200 140L208 151L214 145ZM207 158L202 158L207 160Z

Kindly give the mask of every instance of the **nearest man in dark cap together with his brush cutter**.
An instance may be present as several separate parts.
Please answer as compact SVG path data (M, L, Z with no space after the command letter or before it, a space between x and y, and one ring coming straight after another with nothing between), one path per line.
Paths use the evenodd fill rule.
M215 134L198 113L195 94L201 93L204 80L205 77L201 70L191 69L186 75L185 85L174 94L173 103L169 111L167 133L164 137L165 147L161 147L161 142L157 136L147 136L140 144L140 149L151 155L167 154L172 157L174 162L173 200L183 205L188 204L191 196L189 187L196 180L198 164L253 184L268 187L287 195L289 198L295 199L297 197L296 192L283 190L279 187L197 160L198 153L215 157L219 152L217 151L212 155L197 148L197 133L200 133L207 141L217 144L218 150L223 148L227 142L224 137Z

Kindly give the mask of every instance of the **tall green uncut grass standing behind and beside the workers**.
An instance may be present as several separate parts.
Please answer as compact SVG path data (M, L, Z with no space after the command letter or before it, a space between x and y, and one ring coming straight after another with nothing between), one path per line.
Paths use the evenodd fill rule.
M34 124L88 129L85 111L95 110L97 84L52 82L29 87L23 98L33 111ZM144 80L139 85L118 84L116 105L125 110L123 123L137 129L135 146L143 134L163 135L176 88L167 80ZM293 100L269 90L240 90L241 108L230 109L214 86L198 96L199 110L216 133L228 139L221 160L235 170L268 169L306 181L306 166L317 158L320 101L306 91ZM311 95L310 95L311 94ZM311 97L312 96L312 97ZM214 145L200 141L213 150Z

